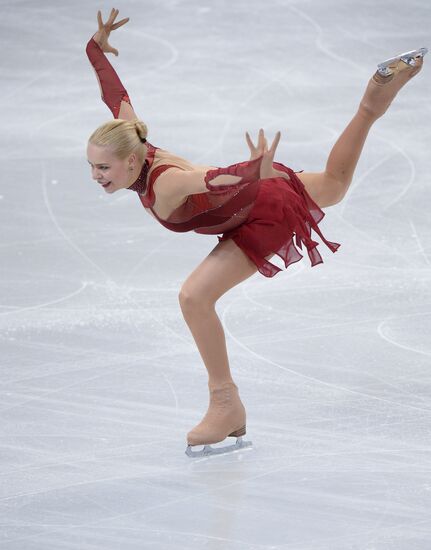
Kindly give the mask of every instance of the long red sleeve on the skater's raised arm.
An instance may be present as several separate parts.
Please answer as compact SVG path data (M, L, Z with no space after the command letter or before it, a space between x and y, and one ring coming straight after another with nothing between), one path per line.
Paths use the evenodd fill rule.
M127 91L94 38L90 38L85 51L99 80L102 100L109 107L114 118L118 118L122 101L132 105Z

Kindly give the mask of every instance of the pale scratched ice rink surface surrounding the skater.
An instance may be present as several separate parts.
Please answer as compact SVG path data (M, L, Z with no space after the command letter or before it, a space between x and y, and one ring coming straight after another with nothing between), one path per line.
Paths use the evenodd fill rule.
M431 48L428 0L0 7L1 548L429 549L431 54L325 209L337 253L217 303L253 449L201 460L178 292L217 237L91 179L112 116L85 54L116 7L108 57L153 145L228 166L263 127L276 160L321 171L377 63Z

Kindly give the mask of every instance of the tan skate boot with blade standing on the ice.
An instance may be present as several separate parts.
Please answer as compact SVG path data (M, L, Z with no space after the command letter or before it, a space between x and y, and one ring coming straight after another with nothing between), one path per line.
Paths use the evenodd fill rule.
M187 456L209 456L250 447L251 441L242 440L246 433L246 413L237 385L226 382L218 387L209 386L209 392L210 403L204 418L187 434ZM234 445L211 447L226 437L236 437L237 441ZM204 448L193 451L192 446L196 445L204 445Z

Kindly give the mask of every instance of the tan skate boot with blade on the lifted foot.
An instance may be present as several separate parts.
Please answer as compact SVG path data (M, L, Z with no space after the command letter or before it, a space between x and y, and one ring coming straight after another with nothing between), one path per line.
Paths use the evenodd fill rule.
M421 70L427 51L419 48L379 63L368 82L359 111L373 119L384 115L404 84Z

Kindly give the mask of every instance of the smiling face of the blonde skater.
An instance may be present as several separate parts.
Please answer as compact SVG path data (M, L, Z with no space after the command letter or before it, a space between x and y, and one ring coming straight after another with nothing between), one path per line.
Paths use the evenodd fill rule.
M91 168L91 176L102 186L106 193L115 193L119 189L130 186L131 172L129 167L136 164L134 155L121 160L116 157L109 147L100 147L89 143L87 159Z

